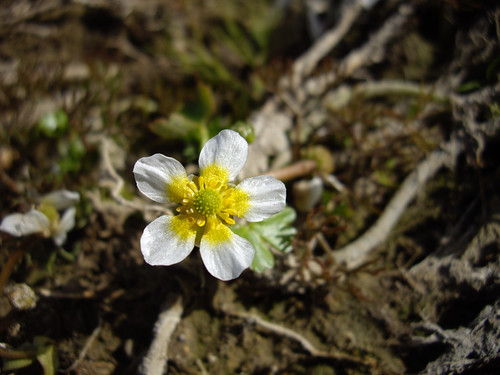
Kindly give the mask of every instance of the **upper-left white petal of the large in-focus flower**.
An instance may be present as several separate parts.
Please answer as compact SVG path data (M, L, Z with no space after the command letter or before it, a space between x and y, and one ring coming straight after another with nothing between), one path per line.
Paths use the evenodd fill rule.
M159 203L180 202L188 181L182 164L162 154L137 160L134 176L140 192Z

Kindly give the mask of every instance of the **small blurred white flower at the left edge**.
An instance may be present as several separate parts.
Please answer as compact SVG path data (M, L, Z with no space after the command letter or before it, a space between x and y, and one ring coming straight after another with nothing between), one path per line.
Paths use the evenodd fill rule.
M67 233L75 226L74 204L80 195L74 191L57 190L43 197L37 209L25 214L7 215L0 230L15 237L39 233L52 238L57 246L66 241ZM65 210L62 217L58 211Z

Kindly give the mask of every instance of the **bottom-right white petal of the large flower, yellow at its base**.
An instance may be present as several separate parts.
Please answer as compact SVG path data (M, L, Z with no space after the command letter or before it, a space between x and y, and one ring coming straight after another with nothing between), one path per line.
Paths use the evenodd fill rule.
M226 281L237 278L252 264L255 249L249 241L220 224L201 237L200 254L208 272Z

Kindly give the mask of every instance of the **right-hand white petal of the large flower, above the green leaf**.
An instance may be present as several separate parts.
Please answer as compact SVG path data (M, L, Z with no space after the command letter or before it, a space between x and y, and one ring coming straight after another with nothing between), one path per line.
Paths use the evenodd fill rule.
M267 219L285 208L286 187L283 182L271 176L250 177L241 181L236 192L247 194L247 208L241 217L247 221Z

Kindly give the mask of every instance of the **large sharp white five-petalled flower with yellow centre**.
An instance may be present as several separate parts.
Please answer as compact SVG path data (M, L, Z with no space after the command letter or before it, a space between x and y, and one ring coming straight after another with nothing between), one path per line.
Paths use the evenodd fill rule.
M177 216L151 222L141 237L141 251L151 265L168 266L199 246L207 270L221 280L238 277L252 263L255 250L234 234L234 217L261 221L285 207L285 185L270 176L232 183L248 154L248 144L232 130L210 139L200 153L201 175L188 176L177 160L155 154L139 159L134 175L139 190L160 203L178 203Z

